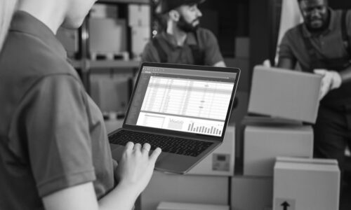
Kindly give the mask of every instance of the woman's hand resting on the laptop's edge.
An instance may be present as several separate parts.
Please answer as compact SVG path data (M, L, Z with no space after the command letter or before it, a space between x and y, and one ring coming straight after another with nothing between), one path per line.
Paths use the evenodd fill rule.
M156 148L149 156L150 144L128 142L121 161L116 170L119 185L134 188L138 193L143 192L149 183L154 165L161 154L161 148Z

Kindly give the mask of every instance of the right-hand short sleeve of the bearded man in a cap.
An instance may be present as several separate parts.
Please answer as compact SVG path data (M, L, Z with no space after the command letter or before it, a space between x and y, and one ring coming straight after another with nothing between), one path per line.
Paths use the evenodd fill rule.
M205 64L213 66L223 61L216 36L209 30L204 29Z

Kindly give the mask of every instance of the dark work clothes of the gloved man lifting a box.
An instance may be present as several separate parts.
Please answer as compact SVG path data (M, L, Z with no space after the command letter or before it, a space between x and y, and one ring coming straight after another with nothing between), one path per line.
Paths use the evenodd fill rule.
M322 34L312 34L307 27L302 24L301 34L298 25L286 32L279 47L279 59L289 58L293 62L298 62L303 71L312 72L317 62L312 62L310 54L305 46L304 37L310 40L318 61L318 69L328 69L329 71L343 71L347 64L350 64L350 55L343 43L341 35L341 10L330 9L330 22L328 28ZM351 43L351 12L346 15L347 38ZM343 110L351 103L351 83L343 83L339 88L331 90L321 101L324 106L332 109Z

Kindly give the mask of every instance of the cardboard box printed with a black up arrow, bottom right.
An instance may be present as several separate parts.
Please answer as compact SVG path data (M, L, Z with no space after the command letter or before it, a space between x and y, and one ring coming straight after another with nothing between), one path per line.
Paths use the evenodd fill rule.
M273 209L339 209L340 171L336 160L277 158Z

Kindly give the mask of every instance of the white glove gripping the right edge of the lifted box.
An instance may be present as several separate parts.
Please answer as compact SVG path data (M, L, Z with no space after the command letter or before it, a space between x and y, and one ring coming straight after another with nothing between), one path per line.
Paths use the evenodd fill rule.
M322 75L322 84L319 91L319 100L333 89L340 87L341 85L341 76L336 71L328 71L326 69L314 69L314 73Z

